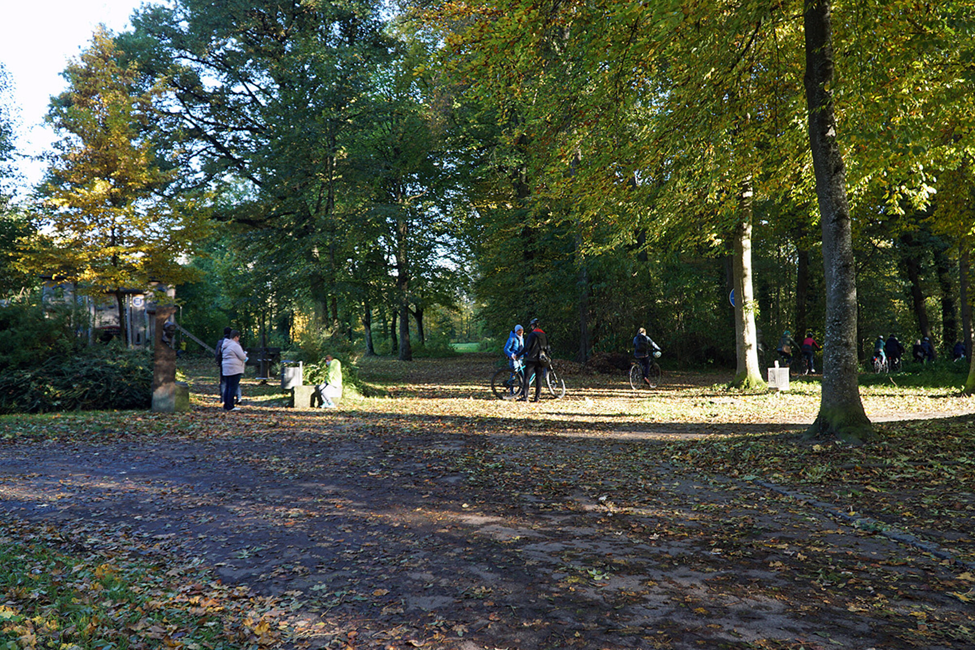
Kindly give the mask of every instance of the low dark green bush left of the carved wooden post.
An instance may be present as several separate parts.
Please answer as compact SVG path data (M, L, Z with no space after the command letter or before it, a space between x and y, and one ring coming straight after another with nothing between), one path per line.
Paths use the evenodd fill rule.
M152 357L108 345L0 370L0 413L148 408Z

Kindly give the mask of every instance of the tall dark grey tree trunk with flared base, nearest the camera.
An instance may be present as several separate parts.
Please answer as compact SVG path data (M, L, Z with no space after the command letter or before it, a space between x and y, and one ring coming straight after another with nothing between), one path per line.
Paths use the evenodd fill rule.
M857 385L856 271L846 172L837 141L833 107L833 24L831 0L805 0L805 98L809 147L816 173L816 198L823 227L826 277L826 332L823 392L810 436L864 441L874 437Z

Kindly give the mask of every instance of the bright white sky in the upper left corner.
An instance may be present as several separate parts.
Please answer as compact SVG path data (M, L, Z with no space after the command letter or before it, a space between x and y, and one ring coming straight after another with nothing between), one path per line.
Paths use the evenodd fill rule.
M51 96L64 90L60 72L92 40L98 23L118 32L128 28L140 0L0 0L0 61L14 83L17 147L36 156L51 149L54 133L43 124ZM41 180L43 166L20 161L21 188Z

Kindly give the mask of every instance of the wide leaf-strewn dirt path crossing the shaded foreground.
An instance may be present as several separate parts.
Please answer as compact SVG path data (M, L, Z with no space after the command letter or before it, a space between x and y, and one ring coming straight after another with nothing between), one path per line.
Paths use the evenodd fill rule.
M210 568L269 596L278 632L254 639L284 647L975 643L957 565L672 465L664 440L715 422L630 415L639 404L610 402L632 398L582 378L563 402L464 397L483 382L430 368L443 376L338 412L204 399L180 416L50 418L49 438L0 447L0 506L82 546L162 554L175 580ZM728 410L715 400L698 401Z

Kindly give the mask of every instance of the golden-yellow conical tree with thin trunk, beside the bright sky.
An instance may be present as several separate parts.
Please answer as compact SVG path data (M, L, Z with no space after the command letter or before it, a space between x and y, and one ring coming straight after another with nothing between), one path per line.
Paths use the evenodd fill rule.
M37 215L20 265L114 293L125 336L124 289L192 279L180 259L209 226L205 197L170 191L177 174L153 138L158 91L137 92L137 68L121 56L99 27L63 72L68 89L48 115L62 136L42 187L50 211Z

